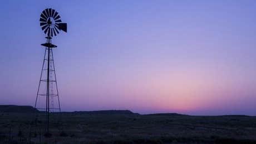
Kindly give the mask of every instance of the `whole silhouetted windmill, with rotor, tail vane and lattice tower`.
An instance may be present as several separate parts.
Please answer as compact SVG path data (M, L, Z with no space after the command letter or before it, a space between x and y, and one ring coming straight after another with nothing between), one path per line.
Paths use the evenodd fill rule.
M40 16L40 26L47 35L47 41L41 44L45 47L45 56L37 90L35 108L40 111L45 111L45 135L48 136L51 135L49 132L50 113L61 112L52 52L53 48L57 48L56 45L52 44L53 36L59 34L61 30L67 32L67 23L61 23L60 18L58 12L52 8L43 10Z

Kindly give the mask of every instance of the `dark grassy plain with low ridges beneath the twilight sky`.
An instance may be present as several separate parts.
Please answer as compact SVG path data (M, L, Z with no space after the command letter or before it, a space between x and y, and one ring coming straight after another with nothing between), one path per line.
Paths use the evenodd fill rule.
M51 114L53 136L46 138L40 118L37 127L31 128L33 107L2 105L0 111L1 143L256 143L255 116L62 112L63 127L58 126L58 116Z

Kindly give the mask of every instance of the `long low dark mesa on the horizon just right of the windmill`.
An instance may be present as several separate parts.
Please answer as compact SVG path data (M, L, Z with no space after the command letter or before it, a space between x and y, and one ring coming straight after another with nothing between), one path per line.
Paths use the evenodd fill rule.
M62 112L62 113L77 114L77 115L139 115L129 110L73 111L73 112Z

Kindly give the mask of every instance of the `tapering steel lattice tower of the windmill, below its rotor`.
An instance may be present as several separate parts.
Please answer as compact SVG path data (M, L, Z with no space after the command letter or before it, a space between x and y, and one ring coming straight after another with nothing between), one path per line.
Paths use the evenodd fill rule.
M61 112L60 107L60 97L58 96L58 87L57 87L57 79L55 72L55 65L53 61L53 52L52 48L55 48L55 45L51 44L51 38L47 37L47 43L45 43L45 56L43 59L42 71L40 76L40 82L37 90L37 97L35 108L38 110L44 110L46 112L46 132L49 132L49 115L50 112ZM46 91L45 91L46 86ZM45 99L45 107L38 104L38 100L40 100L42 96ZM55 99L55 97L57 99ZM57 100L57 106L55 105ZM51 102L50 102L51 101ZM41 101L40 101L41 102ZM43 102L44 103L44 102Z

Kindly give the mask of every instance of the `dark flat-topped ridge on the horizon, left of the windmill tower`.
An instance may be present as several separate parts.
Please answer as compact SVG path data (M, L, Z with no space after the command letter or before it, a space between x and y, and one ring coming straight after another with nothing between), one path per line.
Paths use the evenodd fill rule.
M34 112L38 111L32 106L0 105L0 112Z

